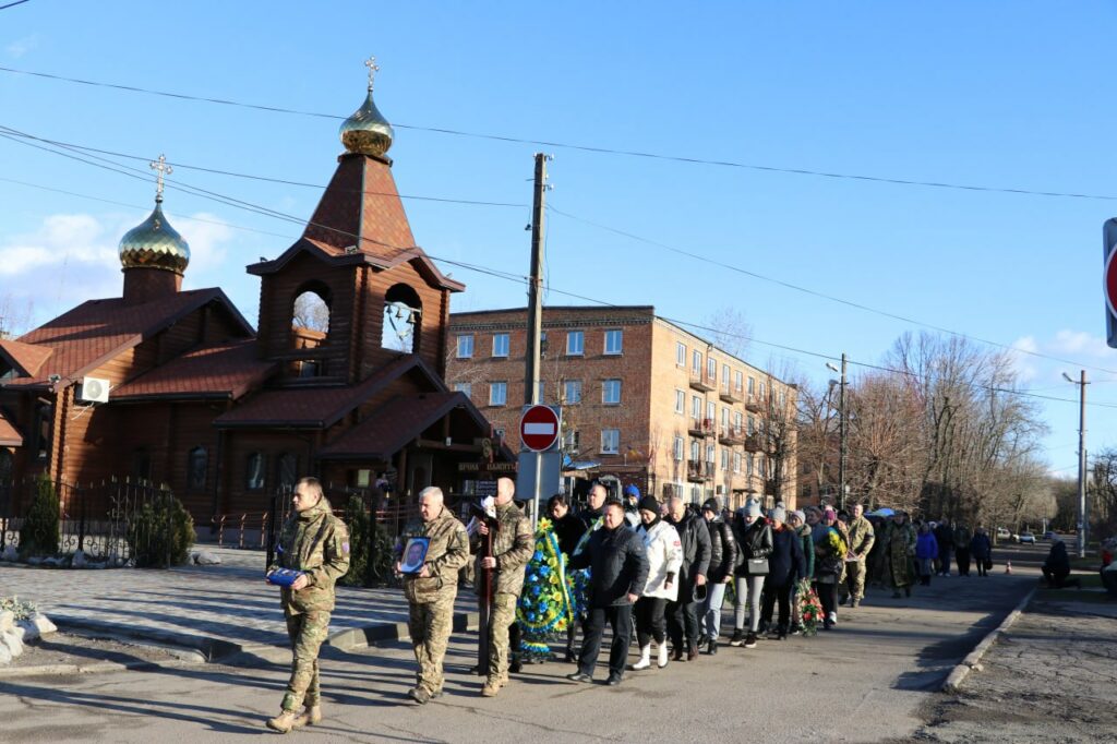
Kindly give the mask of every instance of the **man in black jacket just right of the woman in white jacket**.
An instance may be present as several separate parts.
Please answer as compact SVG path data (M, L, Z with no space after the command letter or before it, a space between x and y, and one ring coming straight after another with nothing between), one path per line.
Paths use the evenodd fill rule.
M687 509L687 504L672 496L668 506L667 521L675 525L682 543L682 567L679 569L679 595L667 603L667 631L674 647L671 659L682 660L686 642L687 660L698 658L698 607L695 591L707 593L706 573L709 571L709 530L701 516ZM703 589L698 589L703 588ZM686 640L684 641L684 635Z

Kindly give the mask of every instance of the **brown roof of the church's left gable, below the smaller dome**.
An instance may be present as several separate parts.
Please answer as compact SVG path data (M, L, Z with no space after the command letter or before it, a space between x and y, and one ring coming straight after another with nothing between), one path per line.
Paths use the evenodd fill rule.
M213 301L225 306L245 335L252 333L218 288L179 292L139 304L126 304L121 297L90 299L19 337L20 344L50 349L52 353L35 374L16 378L7 387L46 384L49 374L74 381Z

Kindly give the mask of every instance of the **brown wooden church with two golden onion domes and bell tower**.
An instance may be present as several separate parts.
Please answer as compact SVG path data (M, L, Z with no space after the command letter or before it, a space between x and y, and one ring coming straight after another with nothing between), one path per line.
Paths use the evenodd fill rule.
M416 245L371 75L341 139L302 237L248 266L256 331L220 288L182 290L190 249L163 214L160 170L154 211L121 240L122 295L0 338L0 480L165 483L199 525L267 509L303 475L462 489L459 473L493 451L488 421L443 382L465 287Z

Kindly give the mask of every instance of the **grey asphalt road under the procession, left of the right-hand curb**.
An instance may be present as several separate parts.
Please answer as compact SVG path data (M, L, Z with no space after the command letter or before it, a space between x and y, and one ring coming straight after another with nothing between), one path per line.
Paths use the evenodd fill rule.
M1029 575L1030 574L1030 575ZM819 638L726 647L715 658L630 674L623 685L574 685L570 665L528 667L495 699L465 673L476 637L459 633L448 695L419 707L404 693L400 642L324 659L318 741L538 742L907 741L951 667L1015 605L1034 570L936 580L910 600L877 590ZM257 649L251 666L0 679L2 736L13 742L225 742L262 733L289 657ZM604 676L603 673L599 676Z

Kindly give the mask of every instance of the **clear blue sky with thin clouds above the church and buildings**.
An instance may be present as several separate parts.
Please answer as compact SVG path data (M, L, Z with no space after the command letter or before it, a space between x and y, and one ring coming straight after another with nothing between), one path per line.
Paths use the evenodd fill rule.
M0 11L0 66L345 116L375 54L401 193L523 204L407 200L419 244L517 274L541 147L403 125L1117 197L1114 3L693 6L30 0ZM0 71L0 126L185 165L324 184L341 152L337 124ZM1088 448L1117 443L1117 374L1102 371L1117 370L1117 352L1105 345L1100 293L1101 225L1117 199L542 150L556 155L551 204L581 220L1072 362L1019 356L1031 389L1070 401L1043 404L1061 475L1075 473L1078 407L1060 373L1085 366L1099 403L1087 412ZM150 209L151 183L6 139L0 179L0 295L34 297L41 322L118 293L115 246ZM278 255L298 227L187 194L175 179L304 220L321 190L185 168L171 177L165 208L194 250L188 286L220 285L255 318L258 285L244 266ZM547 264L551 304L581 302L565 289L696 323L735 307L758 341L855 361L878 362L920 327L558 214ZM468 285L456 309L525 302L518 285L443 269ZM829 375L820 359L761 343L747 355Z

